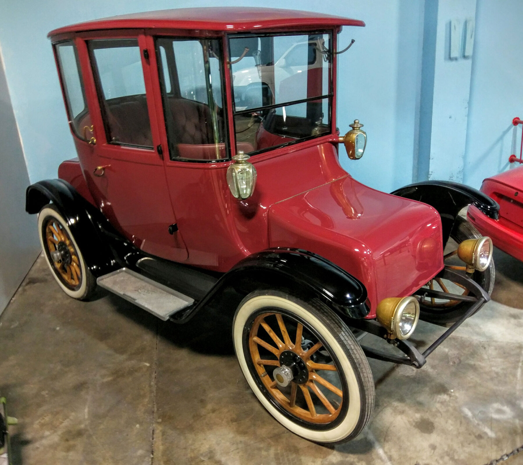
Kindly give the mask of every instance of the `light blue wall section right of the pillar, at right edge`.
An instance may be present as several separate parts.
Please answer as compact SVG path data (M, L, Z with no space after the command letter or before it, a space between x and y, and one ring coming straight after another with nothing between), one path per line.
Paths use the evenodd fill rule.
M514 117L523 119L523 2L477 0L463 181L479 188L509 166ZM521 126L517 130L517 155Z

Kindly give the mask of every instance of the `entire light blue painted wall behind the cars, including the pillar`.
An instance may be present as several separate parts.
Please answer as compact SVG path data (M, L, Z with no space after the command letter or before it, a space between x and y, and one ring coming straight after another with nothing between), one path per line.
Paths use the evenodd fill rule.
M344 133L358 118L368 133L367 151L361 160L349 161L342 150L342 164L356 179L391 191L413 180L427 179L435 171L433 177L462 177L465 183L479 187L484 177L508 169L510 120L523 117L523 60L515 40L523 32L523 3L476 0L472 60L440 63L444 72L439 74L438 83L434 80L438 76L438 60L444 60L448 46L441 26L454 16L468 15L470 11L466 10L473 9L473 3L474 0L303 0L285 4L288 8L348 15L367 23L365 28L346 27L340 34L340 47L352 38L356 43L340 55L338 126ZM463 9L465 4L469 6ZM31 182L55 177L60 162L75 155L46 38L51 29L143 10L212 5L258 6L259 2L0 0L0 45ZM282 5L267 0L264 6ZM434 36L431 47L430 43L427 45L430 34ZM429 66L431 61L434 69ZM467 76L471 76L470 98ZM462 101L452 99L449 91L458 83ZM435 90L440 95L435 97ZM425 104L427 101L429 105ZM451 108L456 111L449 113ZM447 113L454 115L455 121ZM435 170L430 167L431 157Z

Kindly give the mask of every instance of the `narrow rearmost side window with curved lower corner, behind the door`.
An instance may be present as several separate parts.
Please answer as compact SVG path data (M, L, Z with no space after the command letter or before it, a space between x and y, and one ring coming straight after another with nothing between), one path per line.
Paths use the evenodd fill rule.
M56 56L62 85L64 87L67 115L74 133L85 140L84 127L91 125L89 110L85 102L84 84L80 75L78 54L72 42L62 42L56 45Z

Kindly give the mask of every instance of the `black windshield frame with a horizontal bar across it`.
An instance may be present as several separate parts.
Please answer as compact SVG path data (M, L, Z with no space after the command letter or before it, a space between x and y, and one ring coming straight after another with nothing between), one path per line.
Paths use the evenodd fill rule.
M236 148L236 120L235 120L235 117L236 115L241 115L242 113L253 113L253 112L256 112L256 111L259 111L259 110L262 110L262 109L273 109L273 108L281 108L281 107L288 107L292 104L298 104L298 103L304 103L304 102L308 102L308 101L314 101L314 100L323 100L323 99L327 99L327 104L328 104L328 122L327 122L327 126L329 127L329 130L328 132L324 132L324 133L320 133L320 134L315 134L315 135L311 135L311 136L308 136L308 137L302 137L302 138L299 138L295 141L290 141L290 142L285 142L285 143L282 143L282 144L279 144L279 145L274 145L274 146L271 146L271 147L267 147L267 148L263 148L263 149L260 149L260 150L254 150L253 152L249 152L248 155L250 156L255 156L255 155L258 155L258 154L262 154L262 153L265 153L265 152L268 152L269 150L274 150L274 149L279 149L279 148L282 148L282 147L288 147L290 145L295 145L295 144L300 144L302 142L306 142L306 141L311 141L313 139L316 139L316 138L319 138L319 137L325 137L327 135L330 135L332 134L332 124L333 124L333 110L335 108L335 102L334 102L334 82L333 82L333 76L334 76L334 66L335 66L335 54L334 54L334 30L332 29L320 29L320 30L295 30L295 31L268 31L268 32L238 32L238 33L229 33L229 34L226 34L225 36L225 39L226 39L226 43L227 43L227 47L228 47L228 56L232 59L231 57L231 42L230 42L230 39L241 39L241 38L249 38L249 37L277 37L277 36L312 36L312 35L319 35L319 34L325 34L328 36L329 38L329 48L328 48L328 52L329 52L329 55L331 56L331 59L329 61L329 66L328 66L328 73L329 73L329 76L328 76L328 79L327 79L327 83L328 83L328 92L327 94L325 95L322 95L322 96L317 96L317 97L309 97L309 98L306 98L306 99L300 99L300 100L294 100L292 102L283 102L283 103L277 103L277 104L272 104L272 105L269 105L269 106L266 106L266 107L258 107L258 108L249 108L248 110L240 110L240 111L236 111L236 103L235 103L235 98L234 98L234 81L232 79L232 71L230 70L230 73L231 73L231 86L230 86L230 91L231 91L231 100L232 100L232 111L231 111L231 118L232 118L232 123L233 123L233 127L234 127L234 144L235 144L235 148Z

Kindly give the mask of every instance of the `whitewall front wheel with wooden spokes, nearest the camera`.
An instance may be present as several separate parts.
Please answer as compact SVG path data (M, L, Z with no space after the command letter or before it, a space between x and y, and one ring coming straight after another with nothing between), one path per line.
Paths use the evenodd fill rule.
M253 292L233 323L238 362L254 394L283 426L342 443L367 425L374 382L352 332L319 301Z

